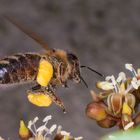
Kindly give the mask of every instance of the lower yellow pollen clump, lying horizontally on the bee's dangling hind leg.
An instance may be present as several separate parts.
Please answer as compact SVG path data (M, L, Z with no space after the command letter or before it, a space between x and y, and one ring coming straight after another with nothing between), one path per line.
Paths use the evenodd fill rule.
M39 107L48 107L52 104L52 99L49 95L44 93L29 93L28 100L32 104L39 106Z

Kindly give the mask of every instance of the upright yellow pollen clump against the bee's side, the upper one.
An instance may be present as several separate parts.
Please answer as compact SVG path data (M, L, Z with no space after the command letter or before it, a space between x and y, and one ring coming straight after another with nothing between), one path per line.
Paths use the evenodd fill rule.
M46 87L53 77L53 66L46 60L41 60L37 74L37 83Z

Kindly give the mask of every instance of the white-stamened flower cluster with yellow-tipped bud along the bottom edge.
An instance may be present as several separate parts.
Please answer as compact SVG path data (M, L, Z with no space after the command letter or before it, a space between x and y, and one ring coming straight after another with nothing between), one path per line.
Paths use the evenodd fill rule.
M48 122L52 119L52 116L46 116L43 119L43 125L37 127L36 123L39 120L35 117L28 122L28 126L24 121L20 121L19 137L21 140L82 140L83 137L73 137L70 132L62 130L62 126L53 124L48 128Z

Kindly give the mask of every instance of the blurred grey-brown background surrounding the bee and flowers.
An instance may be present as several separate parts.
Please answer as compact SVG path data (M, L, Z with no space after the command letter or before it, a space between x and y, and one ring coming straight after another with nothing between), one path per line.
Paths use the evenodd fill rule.
M0 16L10 15L41 34L51 48L74 52L82 65L105 75L125 71L129 62L140 67L140 1L139 0L0 0ZM0 57L17 52L42 52L43 49L11 23L0 17ZM26 122L38 116L52 115L52 123L84 140L98 140L114 129L102 129L85 116L92 101L90 90L100 77L88 70L82 75L89 85L70 83L58 89L67 113L53 104L39 108L30 104L26 90L32 84L0 86L0 135L18 139L19 120Z

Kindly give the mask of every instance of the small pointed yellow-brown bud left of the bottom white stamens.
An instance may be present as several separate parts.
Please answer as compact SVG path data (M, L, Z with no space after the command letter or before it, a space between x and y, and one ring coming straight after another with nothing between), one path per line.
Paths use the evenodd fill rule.
M29 133L30 132L29 132L28 128L26 127L24 121L20 120L19 135L21 137L28 137Z

